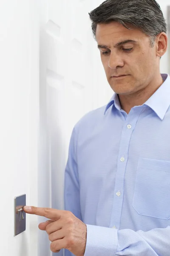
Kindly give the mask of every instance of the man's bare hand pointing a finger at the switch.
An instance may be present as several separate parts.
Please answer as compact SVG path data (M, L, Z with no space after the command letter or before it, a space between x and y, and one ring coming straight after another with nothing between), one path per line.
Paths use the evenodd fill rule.
M76 256L84 255L87 227L72 212L40 207L24 207L23 209L26 213L50 219L40 223L38 227L48 233L52 252L56 253L65 248Z

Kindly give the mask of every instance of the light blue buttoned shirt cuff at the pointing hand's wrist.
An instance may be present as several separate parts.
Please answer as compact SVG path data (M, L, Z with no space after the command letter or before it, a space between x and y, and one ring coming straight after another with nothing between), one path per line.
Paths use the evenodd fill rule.
M87 226L87 241L84 256L115 256L118 230L109 227Z

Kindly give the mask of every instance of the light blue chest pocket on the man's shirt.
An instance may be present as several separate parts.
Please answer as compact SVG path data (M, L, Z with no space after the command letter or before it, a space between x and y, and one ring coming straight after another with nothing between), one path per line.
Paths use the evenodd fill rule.
M133 208L140 215L170 219L170 161L139 159Z

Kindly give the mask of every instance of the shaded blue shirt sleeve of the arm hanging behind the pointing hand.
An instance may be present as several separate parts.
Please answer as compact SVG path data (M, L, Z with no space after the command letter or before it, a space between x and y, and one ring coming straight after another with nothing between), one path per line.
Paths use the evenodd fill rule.
M64 205L65 210L71 211L82 221L79 195L79 177L77 171L77 142L75 128L71 134L71 140L68 152L68 161L65 167L65 185L64 185ZM65 250L65 256L73 256L69 250Z

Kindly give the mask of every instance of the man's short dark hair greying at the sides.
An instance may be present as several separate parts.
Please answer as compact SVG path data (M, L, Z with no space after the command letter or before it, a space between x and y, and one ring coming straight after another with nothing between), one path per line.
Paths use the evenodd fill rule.
M89 13L92 31L96 37L97 24L119 22L139 28L150 37L151 47L156 36L167 32L167 24L159 4L155 0L106 0Z

